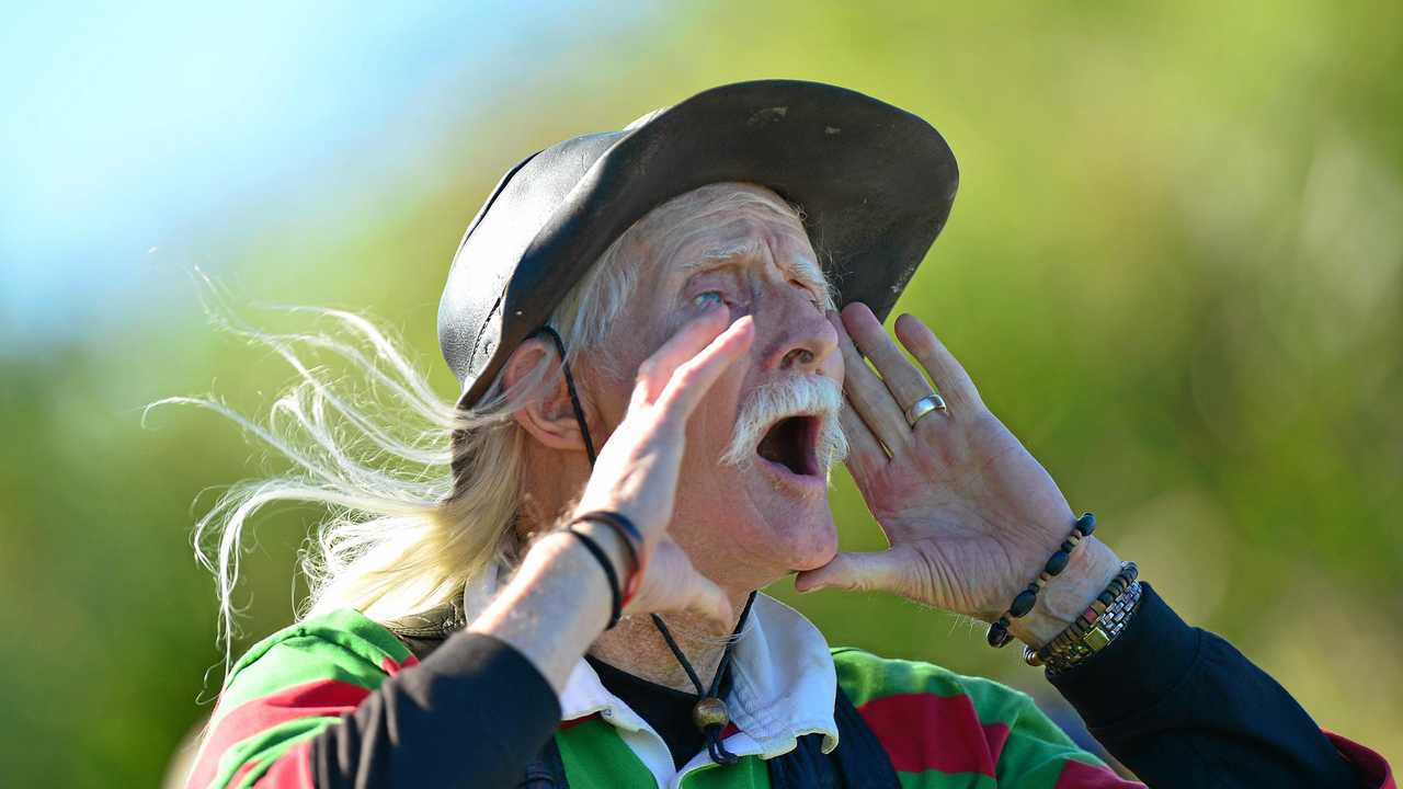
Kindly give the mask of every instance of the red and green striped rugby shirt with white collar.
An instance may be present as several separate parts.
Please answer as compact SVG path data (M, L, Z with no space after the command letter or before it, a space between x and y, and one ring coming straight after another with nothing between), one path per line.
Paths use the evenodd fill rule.
M725 733L727 747L741 755L739 764L723 768L699 754L676 769L666 745L651 727L636 715L630 717L630 710L607 694L593 670L581 661L558 699L560 706L554 710L558 715L551 716L549 709L544 713L522 713L554 722L546 723L556 729L554 738L570 786L765 788L769 785L765 760L793 748L798 736L822 733L825 750L836 745L832 723L836 687L842 687L882 744L904 789L1139 786L1121 779L1094 755L1075 745L1026 694L929 663L888 660L854 649L828 650L817 629L811 633L805 630L812 625L801 616L774 601L763 597L760 601L756 604L755 632L748 630L737 644L737 681L728 698L735 724ZM425 665L443 653L470 651L477 647L477 642L469 643L474 637L487 639L455 636L462 646L449 642L453 646L441 649ZM509 647L502 649L511 651ZM519 654L512 660L526 663ZM324 762L335 757L325 751L328 745L317 743L318 736L355 723L352 713L359 715L356 710L363 702L377 696L379 688L424 671L417 665L415 657L394 633L355 611L338 611L274 633L233 667L189 786L316 786L314 775L324 774ZM434 671L448 675L448 671ZM497 672L495 677L497 685L501 685L505 674ZM471 705L442 703L442 696L435 705L432 699L418 698L431 713L435 706L439 708L439 717L425 720L435 722L438 729L452 729L457 741L467 741L474 731L490 736L495 729L511 729L512 715L519 709L532 709L532 699L542 692L554 698L539 674L519 671L513 677L516 679L508 682L511 688L492 691L513 694L512 703L487 705L501 709L462 709ZM480 688L485 692L487 685ZM408 691L401 695L415 698L429 692ZM535 709L542 709L542 705L535 705ZM404 710L408 712L398 715L398 727L401 731L412 730L411 713L415 710L410 706ZM391 712L389 719L391 726L387 730L393 731L396 713ZM358 731L363 734L369 730ZM1341 737L1322 737L1322 741L1337 750L1334 758L1343 755L1352 761L1355 772L1362 776L1357 785L1393 786L1382 758ZM320 762L317 748L323 748ZM387 755L383 750L368 748L358 751L355 758L341 761L354 765L370 765L375 760L383 762L379 768L365 767L365 775L376 769L405 769L405 765L394 764L393 752ZM466 751L443 751L442 745L436 745L435 758L481 758ZM495 751L487 748L485 752ZM533 754L519 754L515 769L522 769ZM464 775L495 775L487 769L487 762L483 765L481 772L476 772L474 765L466 765ZM1132 767L1139 769L1136 764ZM412 772L418 767L410 769ZM369 778L355 782L358 786L375 783ZM1162 785L1172 783L1156 782L1156 786Z

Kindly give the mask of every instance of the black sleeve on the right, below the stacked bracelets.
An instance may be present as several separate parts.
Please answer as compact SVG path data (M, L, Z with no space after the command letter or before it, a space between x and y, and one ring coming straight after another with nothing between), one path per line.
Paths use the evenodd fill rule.
M1142 585L1125 630L1051 677L1107 751L1156 789L1367 786L1291 694Z

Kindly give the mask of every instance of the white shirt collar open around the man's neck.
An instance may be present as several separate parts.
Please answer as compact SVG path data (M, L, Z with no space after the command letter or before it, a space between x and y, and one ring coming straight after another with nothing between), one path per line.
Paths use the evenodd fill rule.
M725 702L739 731L725 738L727 750L767 760L794 750L800 736L814 733L824 736L824 752L838 747L833 657L824 635L800 612L772 597L756 595L751 621L732 647L731 667L731 694ZM662 737L605 689L584 660L565 681L560 708L563 720L598 713L613 724L658 786L675 788L686 774L710 764L703 751L676 769Z

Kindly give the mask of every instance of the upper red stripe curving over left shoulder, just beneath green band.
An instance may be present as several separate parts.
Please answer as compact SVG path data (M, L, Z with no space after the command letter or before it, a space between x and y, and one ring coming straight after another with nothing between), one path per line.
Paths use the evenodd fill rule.
M340 716L355 709L369 695L370 691L361 685L338 679L317 679L253 699L229 710L205 738L199 764L195 765L188 786L209 786L219 769L219 758L240 741L299 717Z

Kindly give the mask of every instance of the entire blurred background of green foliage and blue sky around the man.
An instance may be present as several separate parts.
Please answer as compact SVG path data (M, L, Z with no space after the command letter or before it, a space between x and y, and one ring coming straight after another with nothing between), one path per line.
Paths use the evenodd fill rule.
M0 783L152 786L219 687L189 528L276 470L216 417L288 371L244 302L401 331L445 396L439 288L499 174L734 80L853 87L961 166L901 309L1194 623L1403 755L1403 6L725 1L195 11L58 4L0 31ZM198 501L196 501L198 498ZM849 546L880 535L846 477ZM246 637L286 623L309 510L258 522ZM831 642L1045 695L890 598L794 599ZM206 671L209 671L206 674Z

